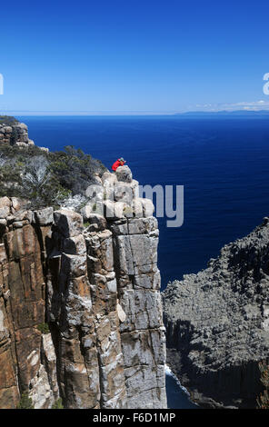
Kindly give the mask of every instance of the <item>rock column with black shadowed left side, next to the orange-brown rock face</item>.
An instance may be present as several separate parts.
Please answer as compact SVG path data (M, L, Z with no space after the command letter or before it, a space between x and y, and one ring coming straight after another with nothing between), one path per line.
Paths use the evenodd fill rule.
M81 215L55 212L47 310L65 407L85 409L100 407L100 382L83 230Z

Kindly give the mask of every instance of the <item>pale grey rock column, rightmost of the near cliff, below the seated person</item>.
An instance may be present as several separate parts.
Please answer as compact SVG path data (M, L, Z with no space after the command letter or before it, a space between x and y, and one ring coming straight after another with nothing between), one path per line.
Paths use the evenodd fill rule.
M111 223L128 408L166 408L165 337L154 217Z

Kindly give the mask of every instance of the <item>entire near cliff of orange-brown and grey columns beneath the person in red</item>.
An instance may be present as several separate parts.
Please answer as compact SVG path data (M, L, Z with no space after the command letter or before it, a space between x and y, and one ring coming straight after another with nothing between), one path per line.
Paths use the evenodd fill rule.
M112 182L136 187L126 167ZM87 223L0 199L1 408L22 392L35 408L166 407L157 221L121 191L105 215L86 205Z

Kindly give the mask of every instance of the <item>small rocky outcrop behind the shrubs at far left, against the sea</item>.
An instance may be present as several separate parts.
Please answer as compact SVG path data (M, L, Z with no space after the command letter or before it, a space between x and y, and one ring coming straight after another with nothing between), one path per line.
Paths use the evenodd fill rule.
M28 127L24 123L15 122L10 125L0 124L0 144L27 147L35 145L28 137Z

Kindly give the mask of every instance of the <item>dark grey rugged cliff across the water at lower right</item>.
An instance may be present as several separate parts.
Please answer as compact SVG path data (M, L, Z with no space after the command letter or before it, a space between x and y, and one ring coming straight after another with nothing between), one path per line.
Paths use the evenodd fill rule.
M269 222L163 293L167 361L194 400L256 407L269 359Z

